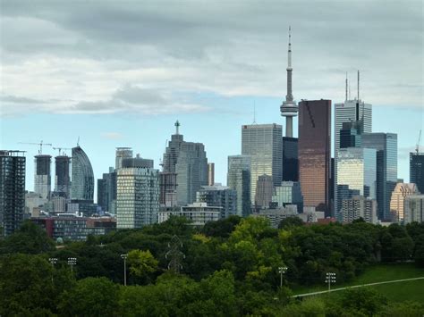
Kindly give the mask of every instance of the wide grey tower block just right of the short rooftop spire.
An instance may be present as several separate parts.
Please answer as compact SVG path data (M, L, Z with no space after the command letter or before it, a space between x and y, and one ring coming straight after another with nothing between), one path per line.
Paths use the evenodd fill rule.
M205 146L202 143L182 142L175 172L177 204L192 204L196 201L196 192L208 185Z

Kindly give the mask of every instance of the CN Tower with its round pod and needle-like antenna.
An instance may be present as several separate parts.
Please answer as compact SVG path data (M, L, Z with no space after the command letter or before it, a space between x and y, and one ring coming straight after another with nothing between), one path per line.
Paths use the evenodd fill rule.
M292 28L289 27L289 49L287 63L287 95L280 106L281 115L285 117L285 137L293 138L293 117L297 116L298 107L292 95Z

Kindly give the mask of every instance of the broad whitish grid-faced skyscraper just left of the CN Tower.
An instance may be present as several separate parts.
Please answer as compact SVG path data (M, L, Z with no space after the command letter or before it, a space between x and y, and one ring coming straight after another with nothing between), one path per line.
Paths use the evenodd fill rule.
M261 175L272 177L274 186L283 178L283 138L281 125L252 124L242 126L242 154L250 155L250 201L255 201Z

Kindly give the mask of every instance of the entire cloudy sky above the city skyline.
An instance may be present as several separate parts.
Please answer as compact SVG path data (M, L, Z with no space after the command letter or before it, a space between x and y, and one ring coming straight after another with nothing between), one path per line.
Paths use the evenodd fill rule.
M398 134L398 177L409 180L424 128L422 1L0 5L0 149L27 151L29 190L38 146L19 142L70 148L80 138L98 179L114 166L116 146L159 168L176 120L185 140L205 144L225 184L227 156L241 154L254 108L257 123L285 128L289 25L294 98L343 102L346 72L356 96L360 70L373 131Z

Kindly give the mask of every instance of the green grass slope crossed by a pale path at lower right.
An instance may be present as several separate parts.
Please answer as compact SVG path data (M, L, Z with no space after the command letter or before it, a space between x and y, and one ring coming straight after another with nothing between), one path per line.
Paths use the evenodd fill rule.
M418 277L424 277L424 269L417 268L414 263L380 264L369 267L356 279L348 283L334 284L332 288ZM386 296L390 301L413 300L424 303L424 279L376 285L371 288L377 289L379 293ZM293 288L293 294L298 295L326 289L327 287L323 281L322 285Z

